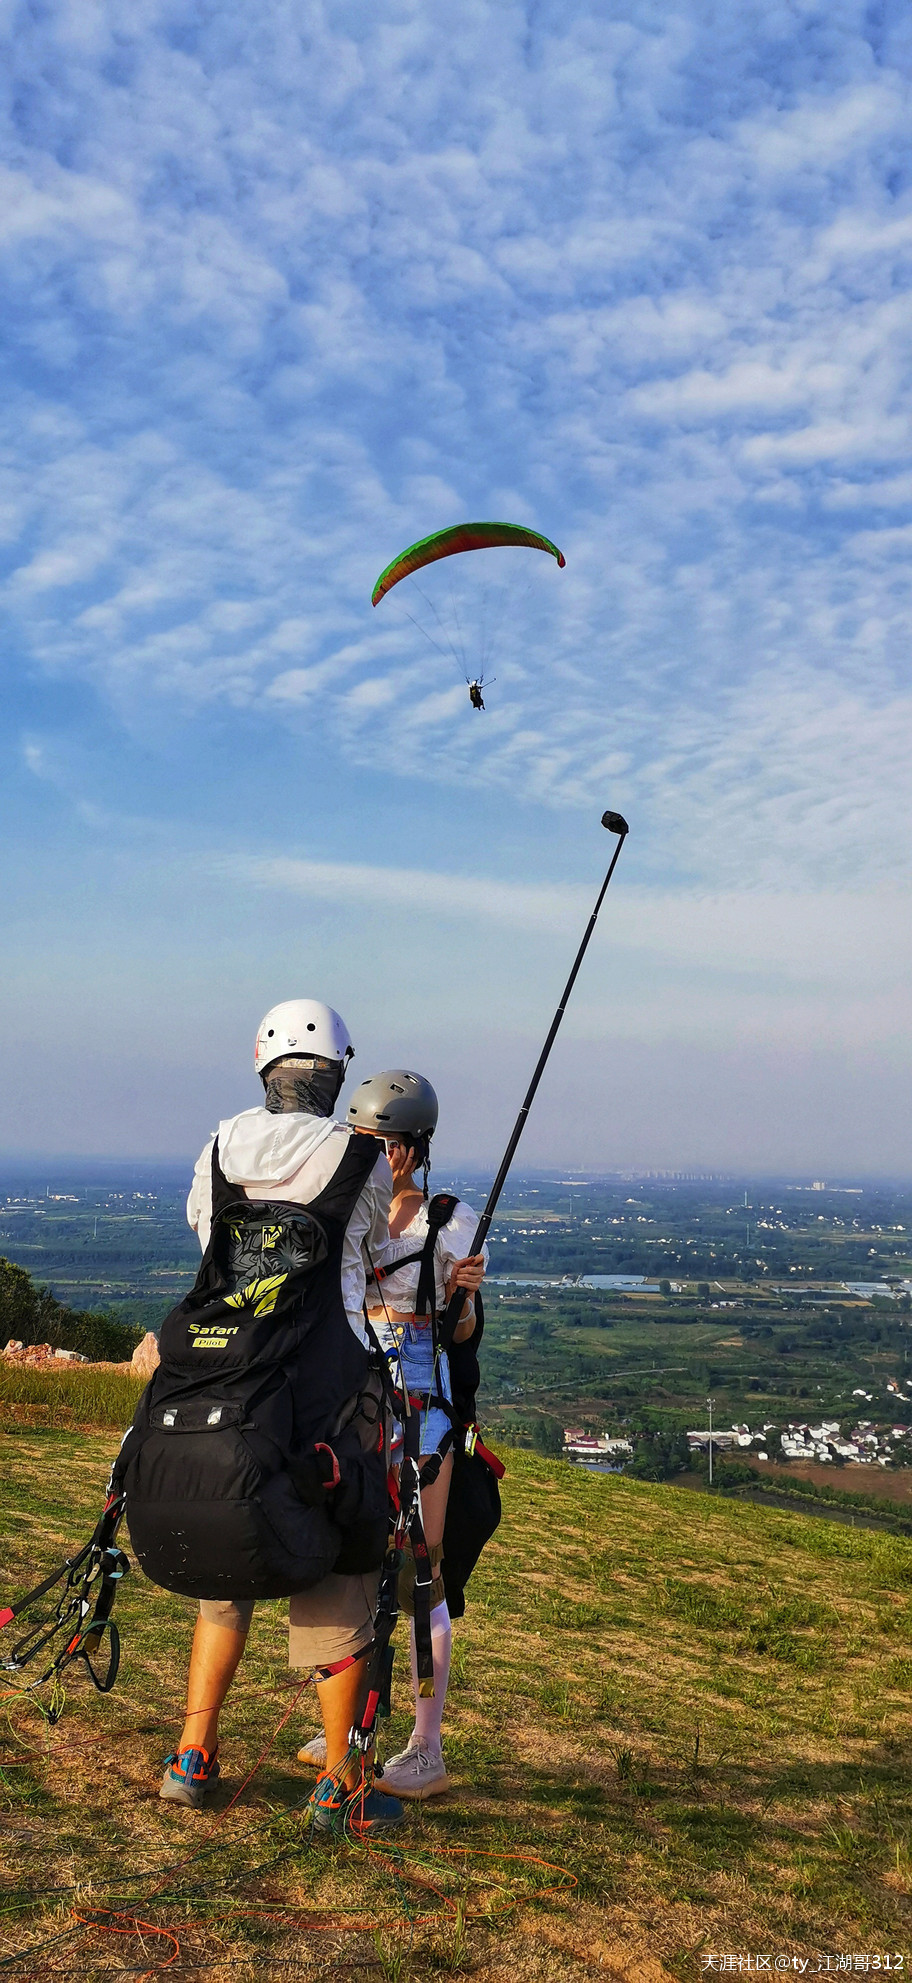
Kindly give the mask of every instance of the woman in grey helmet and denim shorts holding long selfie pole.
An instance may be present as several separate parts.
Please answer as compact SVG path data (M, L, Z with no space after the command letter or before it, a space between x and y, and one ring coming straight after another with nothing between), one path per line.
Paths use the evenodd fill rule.
M371 1327L391 1364L393 1384L420 1400L420 1481L424 1539L430 1553L430 1648L434 1662L434 1693L418 1682L414 1616L410 1626L414 1727L406 1747L383 1765L383 1785L397 1797L426 1799L446 1791L450 1779L442 1757L442 1715L450 1676L450 1612L442 1582L442 1539L446 1499L452 1477L452 1406L448 1356L436 1342L434 1315L444 1313L456 1287L466 1291L454 1342L466 1341L476 1327L474 1295L488 1263L488 1247L476 1259L464 1259L478 1218L472 1206L454 1198L434 1198L428 1204L430 1138L438 1120L438 1101L430 1081L408 1069L391 1069L363 1081L349 1103L347 1120L371 1136L383 1136L393 1168L391 1237L399 1241L400 1265L391 1249L387 1265L373 1261L367 1307ZM422 1172L420 1182L416 1174ZM436 1210L446 1222L436 1225ZM434 1237L436 1225L436 1237ZM432 1311L416 1313L422 1249L432 1237ZM397 1426L393 1459L402 1450L402 1428ZM408 1555L399 1580L402 1610L412 1610L410 1578L414 1559ZM317 1737L301 1749L301 1761L319 1765L323 1745Z

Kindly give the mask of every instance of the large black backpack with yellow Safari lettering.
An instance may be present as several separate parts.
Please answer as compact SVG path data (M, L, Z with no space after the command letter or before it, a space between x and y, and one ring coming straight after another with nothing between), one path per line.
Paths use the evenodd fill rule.
M351 1136L329 1184L297 1206L244 1198L216 1140L210 1241L163 1323L115 1467L155 1584L280 1598L381 1565L381 1376L341 1297L345 1227L381 1148Z

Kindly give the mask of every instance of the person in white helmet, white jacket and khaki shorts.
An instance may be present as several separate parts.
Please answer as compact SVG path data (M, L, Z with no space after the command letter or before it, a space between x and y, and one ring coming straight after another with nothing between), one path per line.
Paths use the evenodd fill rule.
M218 1166L230 1186L252 1200L311 1204L349 1150L351 1128L333 1120L333 1107L353 1057L349 1031L329 1005L287 999L266 1013L256 1037L256 1073L264 1103L218 1124ZM186 1218L206 1247L212 1224L212 1136L194 1170ZM345 1225L341 1299L351 1329L363 1331L365 1257L389 1257L393 1176L383 1148ZM377 1446L377 1416L365 1420L363 1448ZM317 1668L319 1705L327 1739L327 1775L315 1791L317 1830L345 1828L353 1785L333 1771L349 1753L349 1729L361 1707L365 1660L373 1636L379 1571L359 1576L331 1573L289 1598L289 1664ZM186 1719L161 1787L172 1803L200 1805L218 1777L218 1713L244 1652L254 1604L202 1600L196 1620ZM327 1668L335 1672L327 1674ZM349 1799L351 1801L351 1799ZM369 1836L400 1822L402 1807L381 1791L359 1799L357 1830ZM351 1826L353 1828L353 1826Z

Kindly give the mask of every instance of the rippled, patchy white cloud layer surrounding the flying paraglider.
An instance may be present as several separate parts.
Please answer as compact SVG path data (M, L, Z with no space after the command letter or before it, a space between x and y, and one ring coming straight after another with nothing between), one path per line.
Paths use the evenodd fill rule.
M611 773L656 875L900 871L904 4L6 28L2 589L38 670L549 805ZM567 551L472 730L367 605L460 514Z

